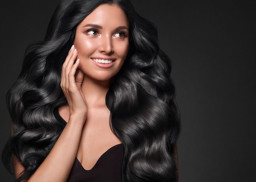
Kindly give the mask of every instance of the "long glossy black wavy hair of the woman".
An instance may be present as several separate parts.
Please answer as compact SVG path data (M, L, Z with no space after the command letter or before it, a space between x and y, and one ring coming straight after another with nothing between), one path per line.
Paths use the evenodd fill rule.
M27 49L22 70L7 93L13 134L2 153L11 155L28 179L46 158L65 127L54 114L67 103L61 67L74 42L76 26L100 4L117 4L129 20L129 52L110 85L106 105L113 132L124 144L124 182L176 181L174 146L180 117L171 80L171 60L159 49L157 29L139 16L129 0L64 0L56 8L42 42Z

